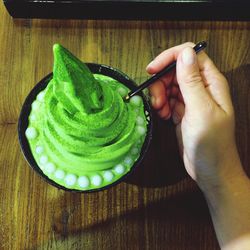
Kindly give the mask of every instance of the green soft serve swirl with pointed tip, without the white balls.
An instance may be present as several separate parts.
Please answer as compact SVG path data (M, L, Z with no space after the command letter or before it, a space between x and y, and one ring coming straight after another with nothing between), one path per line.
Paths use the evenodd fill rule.
M138 126L138 107L123 101L115 80L94 76L61 45L53 51L53 78L33 121L39 140L31 148L43 145L50 162L77 176L112 169L145 138L146 122Z

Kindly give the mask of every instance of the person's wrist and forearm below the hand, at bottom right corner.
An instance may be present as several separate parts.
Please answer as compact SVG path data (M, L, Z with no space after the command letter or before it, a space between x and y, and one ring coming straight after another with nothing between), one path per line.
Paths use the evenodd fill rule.
M241 166L239 169L242 170ZM248 249L250 181L244 171L204 191L222 249ZM240 237L239 237L240 236Z

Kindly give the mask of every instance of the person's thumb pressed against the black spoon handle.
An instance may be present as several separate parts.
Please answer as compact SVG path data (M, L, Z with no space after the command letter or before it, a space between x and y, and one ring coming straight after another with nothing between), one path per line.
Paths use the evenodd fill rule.
M195 51L185 48L177 58L177 82L188 109L199 107L209 98L205 89Z

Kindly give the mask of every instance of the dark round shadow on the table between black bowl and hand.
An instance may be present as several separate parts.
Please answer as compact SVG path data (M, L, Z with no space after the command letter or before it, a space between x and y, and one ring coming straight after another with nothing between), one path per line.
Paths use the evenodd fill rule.
M187 176L178 151L175 126L153 114L151 146L137 168L124 182L142 187L164 187Z

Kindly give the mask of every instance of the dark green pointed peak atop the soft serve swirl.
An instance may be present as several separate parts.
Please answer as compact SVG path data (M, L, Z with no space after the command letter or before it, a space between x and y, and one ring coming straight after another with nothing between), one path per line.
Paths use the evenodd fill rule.
M88 67L60 44L55 44L53 92L71 114L94 113L103 107L103 92Z

